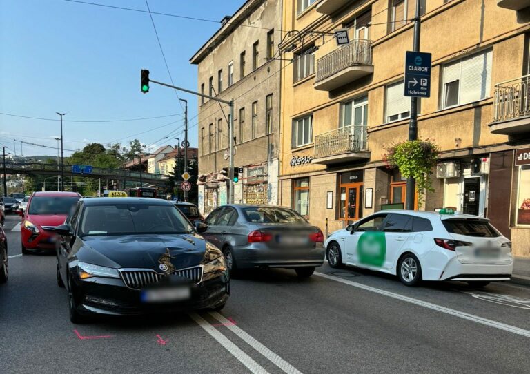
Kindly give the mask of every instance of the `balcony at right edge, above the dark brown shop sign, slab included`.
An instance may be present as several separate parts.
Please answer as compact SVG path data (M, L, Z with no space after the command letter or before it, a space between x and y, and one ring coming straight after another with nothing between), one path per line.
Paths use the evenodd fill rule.
M518 135L530 132L530 74L495 85L493 134Z

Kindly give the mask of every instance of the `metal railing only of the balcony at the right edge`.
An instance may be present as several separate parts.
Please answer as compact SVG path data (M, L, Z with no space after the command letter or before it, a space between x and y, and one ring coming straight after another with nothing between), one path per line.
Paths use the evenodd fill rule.
M530 74L495 85L493 122L530 116Z

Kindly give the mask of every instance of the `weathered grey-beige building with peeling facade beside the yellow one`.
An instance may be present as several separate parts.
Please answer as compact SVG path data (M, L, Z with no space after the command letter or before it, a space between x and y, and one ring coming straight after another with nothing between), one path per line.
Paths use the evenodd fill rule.
M234 100L234 166L243 168L234 202L277 204L281 0L248 0L190 59L198 90ZM226 204L227 105L199 98L199 209Z

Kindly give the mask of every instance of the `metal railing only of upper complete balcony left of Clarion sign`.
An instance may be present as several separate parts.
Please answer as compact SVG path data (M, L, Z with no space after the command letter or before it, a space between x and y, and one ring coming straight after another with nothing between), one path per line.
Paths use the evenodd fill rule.
M317 60L316 81L328 78L333 74L355 65L372 65L372 41L353 39L333 52Z

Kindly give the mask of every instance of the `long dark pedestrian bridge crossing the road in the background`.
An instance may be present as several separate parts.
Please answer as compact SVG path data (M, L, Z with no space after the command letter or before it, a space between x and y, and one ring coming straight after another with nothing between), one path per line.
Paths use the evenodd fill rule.
M3 173L3 163L0 163L0 173ZM50 175L61 174L61 166L44 163L10 163L6 161L6 174L26 175ZM139 182L140 172L132 172L127 169L106 169L104 167L92 167L92 174L72 173L72 165L64 165L64 176L82 176L86 178L101 178L119 180L122 183ZM150 185L165 185L168 176L154 173L141 173L142 183Z

